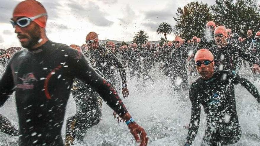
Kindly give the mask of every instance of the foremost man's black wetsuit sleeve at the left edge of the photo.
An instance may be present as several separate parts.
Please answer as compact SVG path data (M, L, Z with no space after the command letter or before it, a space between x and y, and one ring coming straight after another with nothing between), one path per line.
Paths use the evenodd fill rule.
M3 106L5 101L14 91L14 80L10 63L6 67L6 71L0 80L0 107Z

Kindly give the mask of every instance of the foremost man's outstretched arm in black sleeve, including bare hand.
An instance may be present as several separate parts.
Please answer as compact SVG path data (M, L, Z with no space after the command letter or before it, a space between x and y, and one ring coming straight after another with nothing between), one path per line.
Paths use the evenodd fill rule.
M79 56L78 59L73 59L75 57L72 57L68 60L69 66L71 66L72 74L76 78L90 84L90 86L99 93L111 109L116 111L116 113L124 119L124 121L128 121L131 118L131 115L128 113L115 88L88 65L81 53L80 55L81 56ZM131 134L134 135L135 140L137 142L141 142L140 146L147 145L148 137L145 130L141 126L139 126L136 122L131 122L128 124L128 128ZM140 135L140 138L138 137L138 134Z

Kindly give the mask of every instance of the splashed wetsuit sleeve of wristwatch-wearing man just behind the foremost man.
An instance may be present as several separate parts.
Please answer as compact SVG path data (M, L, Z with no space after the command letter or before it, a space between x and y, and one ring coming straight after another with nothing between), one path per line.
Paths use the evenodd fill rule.
M118 68L118 71L119 71L121 79L122 79L122 83L126 83L126 70L125 70L124 66L122 65L122 63L112 53L108 54L108 58L113 60L116 68Z

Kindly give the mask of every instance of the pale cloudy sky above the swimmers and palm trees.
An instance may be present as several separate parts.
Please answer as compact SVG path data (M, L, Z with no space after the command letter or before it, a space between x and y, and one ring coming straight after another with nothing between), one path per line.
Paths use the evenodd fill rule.
M20 47L10 24L14 7L22 0L0 1L0 48ZM149 41L160 40L156 30L160 23L175 25L177 8L194 0L39 0L48 13L46 33L53 42L82 45L94 31L100 40L132 41L140 29ZM202 0L212 5L215 0ZM200 2L200 1L199 1ZM168 40L174 34L167 35Z

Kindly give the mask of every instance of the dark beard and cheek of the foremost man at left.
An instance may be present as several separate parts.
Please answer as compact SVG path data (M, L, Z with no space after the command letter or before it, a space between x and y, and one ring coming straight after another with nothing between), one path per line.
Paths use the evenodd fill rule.
M40 35L41 35L41 32L40 32L39 25L35 25L34 29L32 29L28 32L28 35L18 34L18 36L25 37L28 39L27 42L21 42L22 47L27 48L27 49L32 49L33 46L35 46L36 44L39 43Z

